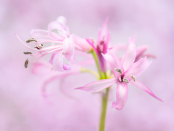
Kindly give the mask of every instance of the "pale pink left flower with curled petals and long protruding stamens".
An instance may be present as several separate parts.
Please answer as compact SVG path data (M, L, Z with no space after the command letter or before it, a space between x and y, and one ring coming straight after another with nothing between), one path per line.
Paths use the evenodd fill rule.
M30 33L32 38L26 42L34 42L34 48L31 48L27 44L23 43L16 35L22 44L33 51L37 51L35 55L32 55L31 52L25 52L25 54L38 57L33 62L36 62L44 55L52 54L50 63L53 66L53 70L56 71L71 69L72 63L74 61L75 49L86 52L91 50L90 45L86 42L85 39L80 38L77 35L70 34L69 28L66 26L66 18L63 16L60 16L55 21L50 22L48 24L48 30L33 29ZM48 43L51 43L51 45L47 46ZM44 48L44 46L47 47ZM66 63L64 61L66 61ZM28 63L29 61L27 59L25 62L25 67L27 67Z

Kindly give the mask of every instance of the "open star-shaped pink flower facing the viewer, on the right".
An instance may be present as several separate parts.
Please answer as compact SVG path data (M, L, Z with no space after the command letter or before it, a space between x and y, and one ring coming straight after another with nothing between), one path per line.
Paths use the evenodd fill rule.
M117 110L123 109L126 104L128 98L128 83L135 85L154 98L162 101L157 96L155 96L155 94L148 87L136 80L136 78L149 67L151 62L149 62L147 58L144 57L134 63L136 58L136 46L133 39L129 40L129 46L127 47L122 61L120 61L112 52L103 54L103 56L109 64L114 74L114 78L92 82L76 89L88 92L98 92L116 83L116 101L112 103L112 108L116 108Z

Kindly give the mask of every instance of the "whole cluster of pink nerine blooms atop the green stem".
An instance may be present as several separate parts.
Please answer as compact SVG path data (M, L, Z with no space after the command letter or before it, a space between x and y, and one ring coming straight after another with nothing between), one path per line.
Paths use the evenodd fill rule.
M57 71L57 74L47 80L63 78L64 76L73 75L74 73L89 72L95 75L99 80L86 84L85 86L76 89L87 92L99 92L105 88L110 88L114 83L117 84L116 100L112 103L112 107L117 110L123 109L128 98L128 84L135 85L154 98L159 99L155 94L144 84L139 82L137 78L151 65L149 57L154 58L152 54L147 54L147 47L142 46L136 48L135 39L129 39L128 46L110 45L110 33L108 31L108 18L99 30L97 43L93 39L81 38L78 35L70 34L69 28L66 25L66 19L63 16L58 17L55 21L48 24L47 30L33 29L31 30L32 38L26 43L22 42L27 48L36 52L24 52L24 54L36 57L35 61L25 61L25 67L29 63L38 61L41 57L51 54L49 60L50 65L45 68ZM28 43L34 42L35 46L31 47ZM116 53L119 49L125 50L122 57L117 57ZM82 62L76 60L76 51L92 54L98 73L89 69L82 68ZM89 58L90 59L90 58ZM88 63L89 64L89 63ZM78 69L75 68L78 66ZM108 71L108 66L111 69ZM34 71L38 69L35 64ZM75 71L73 71L75 69ZM65 72L66 71L66 72ZM44 85L45 90L45 85Z

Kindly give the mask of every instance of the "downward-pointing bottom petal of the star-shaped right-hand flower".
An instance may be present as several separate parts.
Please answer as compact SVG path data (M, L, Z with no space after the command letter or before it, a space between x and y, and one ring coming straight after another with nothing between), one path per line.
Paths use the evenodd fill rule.
M128 98L128 85L126 83L119 83L117 85L116 92L116 102L112 103L112 108L116 108L117 110L122 110L126 104Z

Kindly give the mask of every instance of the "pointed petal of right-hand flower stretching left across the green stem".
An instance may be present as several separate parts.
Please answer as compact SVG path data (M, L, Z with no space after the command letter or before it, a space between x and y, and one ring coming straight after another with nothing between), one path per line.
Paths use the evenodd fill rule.
M85 86L82 87L78 87L75 89L80 89L80 90L84 90L87 92L99 92L105 88L110 87L111 85L113 85L115 82L115 78L113 79L105 79L105 80L100 80L100 81L95 81L95 82L91 82L89 84L86 84Z

